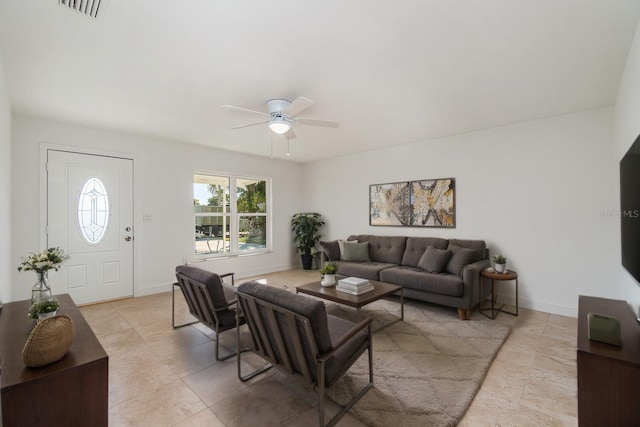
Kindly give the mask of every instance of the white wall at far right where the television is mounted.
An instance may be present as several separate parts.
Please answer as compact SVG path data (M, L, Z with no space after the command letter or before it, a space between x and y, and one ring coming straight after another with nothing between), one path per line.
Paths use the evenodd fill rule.
M624 75L618 88L615 105L614 142L615 158L613 167L617 171L620 159L627 152L633 141L640 134L640 23L636 28L636 35L629 50ZM640 183L638 184L640 187ZM619 182L616 182L616 197L620 194ZM619 205L618 205L619 206ZM618 221L618 227L620 223ZM618 228L619 229L619 228ZM616 257L613 278L615 286L625 295L638 311L640 305L640 285L620 264L620 236L616 236Z

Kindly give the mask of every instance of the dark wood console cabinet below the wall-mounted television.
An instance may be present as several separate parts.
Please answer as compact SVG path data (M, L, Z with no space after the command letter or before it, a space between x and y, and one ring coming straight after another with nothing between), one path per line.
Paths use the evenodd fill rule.
M589 340L587 315L620 320L622 347ZM626 301L580 296L578 424L640 425L640 325Z

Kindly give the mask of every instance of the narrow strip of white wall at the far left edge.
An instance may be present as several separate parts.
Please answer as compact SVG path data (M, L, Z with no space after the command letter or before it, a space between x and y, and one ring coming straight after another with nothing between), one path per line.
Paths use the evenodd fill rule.
M0 50L0 299L11 300L11 108ZM16 264L17 267L17 264Z

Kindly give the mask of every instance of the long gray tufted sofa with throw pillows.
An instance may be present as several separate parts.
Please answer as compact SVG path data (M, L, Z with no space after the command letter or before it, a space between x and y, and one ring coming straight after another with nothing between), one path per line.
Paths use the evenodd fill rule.
M320 242L321 264L337 275L404 287L406 297L458 309L462 320L480 302L480 271L490 266L484 240L354 235Z

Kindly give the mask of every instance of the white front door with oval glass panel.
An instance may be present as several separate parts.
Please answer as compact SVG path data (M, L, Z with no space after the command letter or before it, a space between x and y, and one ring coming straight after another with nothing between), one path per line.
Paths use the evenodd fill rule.
M133 296L133 160L47 151L47 247L70 256L54 294L77 304Z

